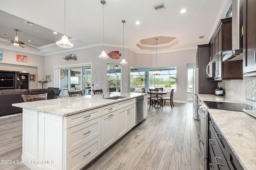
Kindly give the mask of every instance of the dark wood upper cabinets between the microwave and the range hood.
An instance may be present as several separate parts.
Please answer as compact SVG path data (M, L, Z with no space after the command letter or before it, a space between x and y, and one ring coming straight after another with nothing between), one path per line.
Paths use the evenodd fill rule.
M220 51L232 49L232 18L220 20L214 35L209 43L211 45L212 61L215 65L215 80L232 80L243 78L242 60L222 62Z

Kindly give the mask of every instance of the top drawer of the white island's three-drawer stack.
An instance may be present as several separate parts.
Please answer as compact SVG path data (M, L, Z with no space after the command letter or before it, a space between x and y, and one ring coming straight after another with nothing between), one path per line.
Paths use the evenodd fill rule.
M81 113L67 116L66 123L65 123L65 125L66 125L65 129L68 129L70 127L79 125L79 124L87 122L87 121L90 121L90 120L95 119L100 116L101 116L101 108L92 109L92 110L88 110L88 111L84 111Z

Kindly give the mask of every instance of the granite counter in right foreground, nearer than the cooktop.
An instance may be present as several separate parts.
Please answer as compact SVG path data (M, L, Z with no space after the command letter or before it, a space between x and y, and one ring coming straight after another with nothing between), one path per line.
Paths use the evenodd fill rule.
M244 170L256 170L256 119L242 111L208 111Z

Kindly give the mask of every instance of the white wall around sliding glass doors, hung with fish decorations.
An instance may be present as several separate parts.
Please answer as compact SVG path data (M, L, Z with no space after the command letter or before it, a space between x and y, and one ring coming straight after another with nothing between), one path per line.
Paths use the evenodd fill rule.
M106 53L111 51L119 51L123 56L123 49L117 47L105 47ZM102 52L102 47L92 47L88 49L81 49L72 52L64 52L55 55L46 56L44 59L45 62L45 74L52 75L52 82L48 82L48 87L54 87L54 67L67 66L67 65L76 65L81 63L92 63L92 84L98 84L99 86L92 86L92 90L102 89L103 93L107 92L107 64L119 64L122 61L122 56L120 59L100 59L98 55ZM127 49L124 50L125 59L128 63L132 60L127 59ZM63 58L68 54L76 54L77 60L66 61ZM129 68L129 69L128 69ZM128 88L128 78L130 78L130 65L122 65L122 92L130 92ZM130 80L129 80L130 81ZM126 86L125 86L126 84ZM129 89L129 91L128 91Z

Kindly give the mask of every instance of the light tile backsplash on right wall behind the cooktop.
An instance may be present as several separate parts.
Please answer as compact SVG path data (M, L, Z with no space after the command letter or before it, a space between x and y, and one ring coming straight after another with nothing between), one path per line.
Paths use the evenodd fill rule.
M256 107L256 77L222 81L225 96Z

